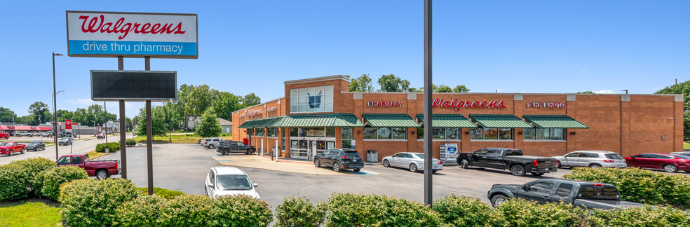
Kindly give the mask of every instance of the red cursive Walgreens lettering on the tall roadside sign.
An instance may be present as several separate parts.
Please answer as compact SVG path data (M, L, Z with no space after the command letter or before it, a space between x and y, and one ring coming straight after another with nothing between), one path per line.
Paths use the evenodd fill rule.
M103 14L95 17L80 15L79 20L82 20L81 32L83 33L121 34L118 39L124 39L130 32L134 34L184 34L187 32L182 30L182 22L178 22L177 25L174 22L129 22L125 18L117 20L106 18Z

